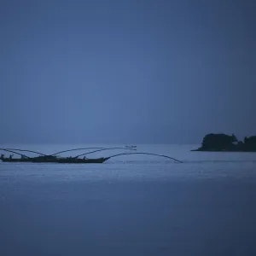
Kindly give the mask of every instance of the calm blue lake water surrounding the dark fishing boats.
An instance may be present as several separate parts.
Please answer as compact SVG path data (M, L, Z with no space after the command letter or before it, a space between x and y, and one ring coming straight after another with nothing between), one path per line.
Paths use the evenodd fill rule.
M94 146L122 147L0 148ZM98 165L0 163L0 255L256 255L256 154L189 152L197 147L137 147L183 164L141 154Z

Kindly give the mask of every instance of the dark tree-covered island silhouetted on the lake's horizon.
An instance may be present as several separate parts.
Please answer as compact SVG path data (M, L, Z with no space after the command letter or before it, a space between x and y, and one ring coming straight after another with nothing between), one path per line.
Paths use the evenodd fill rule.
M256 152L256 136L245 137L241 142L235 134L209 133L203 138L201 147L191 151Z

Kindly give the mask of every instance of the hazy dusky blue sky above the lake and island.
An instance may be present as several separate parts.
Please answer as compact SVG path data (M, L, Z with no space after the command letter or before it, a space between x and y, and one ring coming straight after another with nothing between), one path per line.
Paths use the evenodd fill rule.
M256 135L256 2L1 0L0 143Z

